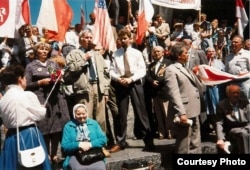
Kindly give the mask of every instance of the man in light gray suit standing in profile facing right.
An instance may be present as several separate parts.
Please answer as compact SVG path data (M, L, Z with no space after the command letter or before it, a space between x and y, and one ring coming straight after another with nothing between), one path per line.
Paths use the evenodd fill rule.
M169 96L169 113L174 114L176 153L201 153L199 115L201 112L201 83L194 73L185 67L188 49L183 42L171 48L173 64L166 68L165 82Z

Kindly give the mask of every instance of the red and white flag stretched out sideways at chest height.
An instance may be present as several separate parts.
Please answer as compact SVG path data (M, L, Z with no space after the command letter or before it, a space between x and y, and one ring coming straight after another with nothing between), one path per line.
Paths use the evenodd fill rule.
M249 72L242 75L233 75L205 64L197 66L195 72L204 85L217 85L232 80L250 78Z

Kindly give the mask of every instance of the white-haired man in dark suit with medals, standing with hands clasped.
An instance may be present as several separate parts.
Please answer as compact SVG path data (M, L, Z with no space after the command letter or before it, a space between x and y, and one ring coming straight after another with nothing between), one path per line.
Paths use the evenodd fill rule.
M164 88L164 75L171 60L164 58L162 46L153 47L152 54L154 62L149 65L146 74L146 82L150 85L147 90L151 92L150 98L153 99L159 139L163 139L168 136L170 130L170 123L167 123L168 99Z

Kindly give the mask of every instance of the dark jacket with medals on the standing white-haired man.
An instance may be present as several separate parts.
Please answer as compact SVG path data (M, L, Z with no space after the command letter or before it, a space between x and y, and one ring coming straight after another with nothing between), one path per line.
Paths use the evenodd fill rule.
M164 58L155 74L155 66L157 62L152 62L148 66L147 74L146 74L146 81L150 84L150 90L151 90L151 96L159 96L163 100L167 100L167 91L166 87L164 86L165 84L165 70L166 67L171 64L171 60ZM158 87L153 87L153 81L157 80L159 81L159 86Z

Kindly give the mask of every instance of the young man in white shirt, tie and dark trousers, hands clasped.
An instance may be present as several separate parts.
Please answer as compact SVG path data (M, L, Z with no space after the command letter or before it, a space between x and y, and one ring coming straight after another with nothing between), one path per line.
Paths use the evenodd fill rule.
M132 34L127 29L118 33L122 48L114 52L114 62L110 67L111 79L116 82L116 99L119 115L114 128L117 130L117 144L110 152L118 152L126 147L127 115L129 98L134 114L138 118L137 128L143 136L146 150L154 147L148 114L145 106L141 79L146 75L146 64L142 53L131 47Z

